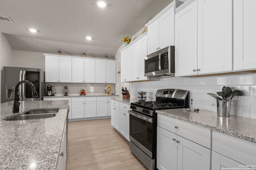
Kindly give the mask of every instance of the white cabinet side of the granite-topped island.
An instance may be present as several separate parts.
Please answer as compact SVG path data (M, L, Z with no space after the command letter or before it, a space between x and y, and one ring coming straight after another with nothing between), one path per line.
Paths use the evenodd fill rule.
M66 169L66 156L67 156L67 121L65 121L64 131L62 134L62 140L60 144L60 151L58 154L58 162L56 170Z

